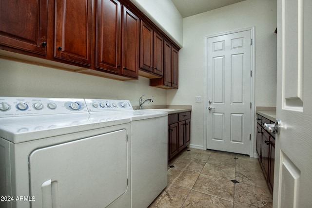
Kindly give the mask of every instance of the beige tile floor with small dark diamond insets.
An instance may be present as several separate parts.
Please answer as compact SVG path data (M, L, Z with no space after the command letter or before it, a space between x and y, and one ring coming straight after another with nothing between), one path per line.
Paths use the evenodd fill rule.
M169 166L168 186L149 208L272 208L256 158L188 148Z

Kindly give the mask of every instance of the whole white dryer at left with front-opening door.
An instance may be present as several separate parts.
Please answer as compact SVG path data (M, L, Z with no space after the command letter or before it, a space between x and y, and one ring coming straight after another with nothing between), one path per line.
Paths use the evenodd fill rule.
M131 207L130 131L84 99L0 97L0 207Z

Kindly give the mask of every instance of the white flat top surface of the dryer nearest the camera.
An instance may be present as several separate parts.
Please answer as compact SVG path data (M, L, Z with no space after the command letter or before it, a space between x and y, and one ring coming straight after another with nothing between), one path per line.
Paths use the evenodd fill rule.
M0 137L21 143L129 122L130 119L125 117L89 113L9 117L0 119Z

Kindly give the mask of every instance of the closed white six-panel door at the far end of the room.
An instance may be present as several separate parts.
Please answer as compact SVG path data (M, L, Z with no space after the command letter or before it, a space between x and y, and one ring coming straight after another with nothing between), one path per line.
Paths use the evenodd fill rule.
M250 154L251 30L206 43L207 149Z

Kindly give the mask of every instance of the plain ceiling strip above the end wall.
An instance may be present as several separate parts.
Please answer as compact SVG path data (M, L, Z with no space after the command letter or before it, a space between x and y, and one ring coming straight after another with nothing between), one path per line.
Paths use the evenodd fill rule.
M243 0L172 0L183 18L240 1Z

